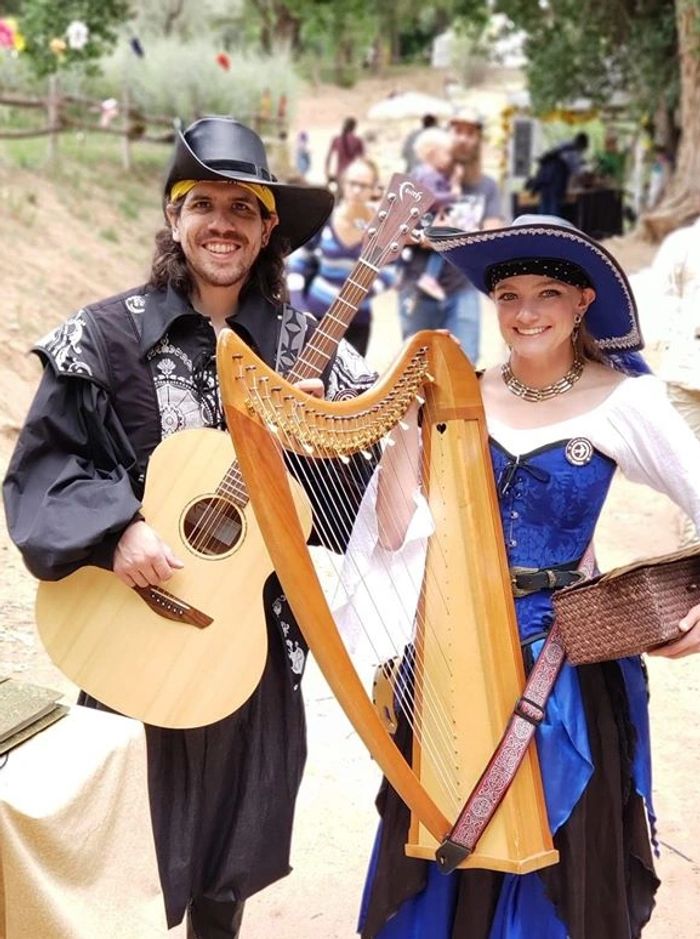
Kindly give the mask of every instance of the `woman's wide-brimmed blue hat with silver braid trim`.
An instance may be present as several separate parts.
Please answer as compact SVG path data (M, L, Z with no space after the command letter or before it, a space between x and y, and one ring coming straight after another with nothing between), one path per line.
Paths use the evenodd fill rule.
M521 215L508 228L491 231L432 228L428 243L486 294L494 265L534 258L576 264L596 292L586 328L600 348L631 352L644 345L627 275L605 248L563 218Z

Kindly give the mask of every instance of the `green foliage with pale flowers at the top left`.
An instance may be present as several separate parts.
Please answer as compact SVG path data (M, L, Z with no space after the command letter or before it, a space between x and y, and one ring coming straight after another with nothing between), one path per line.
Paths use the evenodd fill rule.
M120 25L129 16L128 0L22 0L18 14L26 40L24 55L39 75L61 68L82 66L94 70L96 62L117 41ZM88 39L80 49L65 43L66 29L74 21L88 28ZM52 47L53 44L53 47Z

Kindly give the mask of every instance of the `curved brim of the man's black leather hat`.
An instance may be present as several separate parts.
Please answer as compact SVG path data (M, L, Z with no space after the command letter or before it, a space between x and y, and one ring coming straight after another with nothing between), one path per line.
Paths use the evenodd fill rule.
M277 179L265 179L255 172L238 170L214 170L203 163L188 146L182 133L178 134L175 153L165 183L164 199L167 202L174 183L181 179L196 179L211 182L258 183L267 186L275 196L279 224L277 233L294 251L306 244L321 228L333 211L333 194L320 186L295 186Z

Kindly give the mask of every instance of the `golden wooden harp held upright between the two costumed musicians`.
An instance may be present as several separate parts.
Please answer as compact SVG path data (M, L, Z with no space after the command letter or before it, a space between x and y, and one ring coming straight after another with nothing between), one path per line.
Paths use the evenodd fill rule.
M433 332L412 337L389 372L351 400L326 402L303 394L230 331L219 339L218 363L227 425L287 599L341 706L411 809L407 854L432 859L525 685L474 371L450 337ZM336 494L333 480L340 491L352 461L380 449L416 398L423 402L421 485L434 532L416 592L412 692L398 695L402 708L410 698L409 762L380 719L338 632L305 543L285 463L312 485L314 469L324 467L317 485L326 492L325 513L337 519L342 512L329 509ZM397 435L400 439L400 431ZM329 476L328 466L336 464L337 476ZM323 524L323 514L315 510L316 525ZM530 746L476 850L460 866L527 873L557 859L537 754Z

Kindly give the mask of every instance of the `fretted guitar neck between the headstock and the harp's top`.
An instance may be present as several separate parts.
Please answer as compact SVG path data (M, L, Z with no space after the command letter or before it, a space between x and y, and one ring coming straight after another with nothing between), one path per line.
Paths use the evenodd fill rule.
M338 296L320 320L314 334L286 376L294 384L302 378L318 378L335 352L338 343L367 296L378 274L378 268L359 258Z

